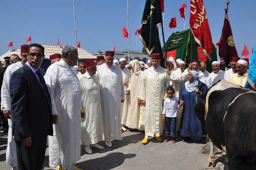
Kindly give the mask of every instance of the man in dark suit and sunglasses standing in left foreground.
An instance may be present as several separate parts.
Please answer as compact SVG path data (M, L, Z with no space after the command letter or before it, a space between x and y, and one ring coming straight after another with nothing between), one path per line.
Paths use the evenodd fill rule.
M18 169L41 170L47 135L53 135L51 99L41 74L44 47L30 44L28 62L10 79Z

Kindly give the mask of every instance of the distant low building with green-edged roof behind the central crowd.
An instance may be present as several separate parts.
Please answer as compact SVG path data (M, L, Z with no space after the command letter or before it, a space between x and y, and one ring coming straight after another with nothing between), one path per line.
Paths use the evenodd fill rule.
M98 51L96 53L91 53L94 56L99 56L101 55L101 53L103 53L103 55L105 55L105 52L102 51ZM143 52L139 52L139 51L129 51L129 57L130 57L130 61L136 59L139 61L144 61L145 63L147 63L148 59L151 59L151 56L143 53ZM124 50L121 52L116 51L115 52L115 59L119 60L120 58L125 58L128 64L128 50Z

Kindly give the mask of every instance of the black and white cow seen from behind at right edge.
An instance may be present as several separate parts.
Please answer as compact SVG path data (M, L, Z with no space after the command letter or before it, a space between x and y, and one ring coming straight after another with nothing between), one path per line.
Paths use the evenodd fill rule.
M239 87L220 80L207 92L206 131L211 142L208 166L216 166L214 145L226 152L230 170L240 169L239 165L234 163L234 155L247 150L255 151L256 92ZM255 159L255 156L251 158ZM254 165L248 166L255 167L256 159L252 162Z

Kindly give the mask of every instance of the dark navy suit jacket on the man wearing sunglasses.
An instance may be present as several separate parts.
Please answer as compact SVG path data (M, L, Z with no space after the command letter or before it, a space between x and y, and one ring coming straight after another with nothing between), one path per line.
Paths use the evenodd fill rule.
M48 89L47 93L51 100ZM53 135L51 106L34 72L26 64L13 72L10 94L14 141L30 136L34 140L42 140Z

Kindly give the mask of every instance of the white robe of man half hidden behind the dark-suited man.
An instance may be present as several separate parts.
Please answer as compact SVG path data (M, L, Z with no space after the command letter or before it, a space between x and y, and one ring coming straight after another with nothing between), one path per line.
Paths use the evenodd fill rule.
M21 62L14 63L7 67L4 78L3 85L1 89L1 110L3 108L11 110L11 96L10 96L10 78L14 71L23 67ZM7 139L7 148L6 148L6 163L10 165L10 167L18 166L17 164L17 154L16 154L16 144L12 138L12 119L8 119L9 131L8 131L8 139Z

